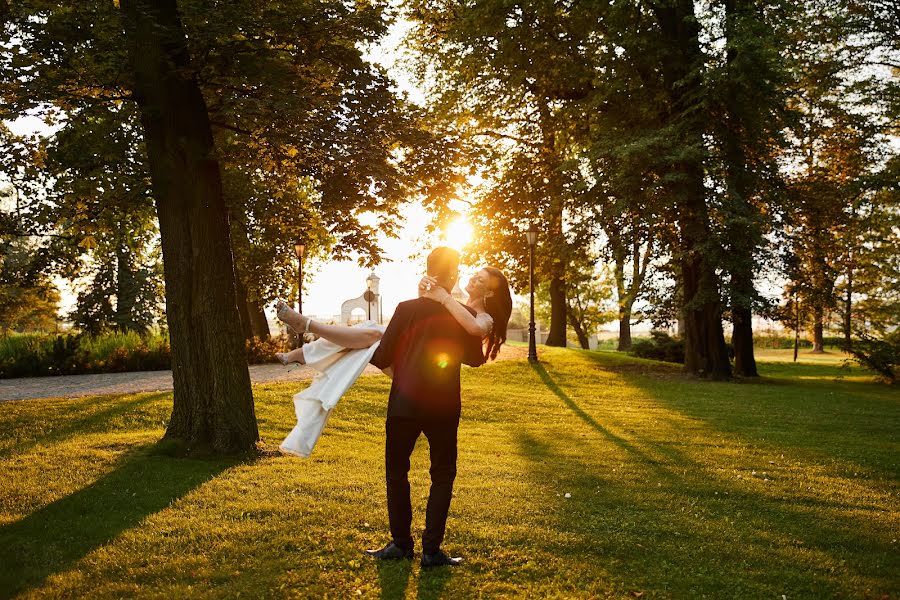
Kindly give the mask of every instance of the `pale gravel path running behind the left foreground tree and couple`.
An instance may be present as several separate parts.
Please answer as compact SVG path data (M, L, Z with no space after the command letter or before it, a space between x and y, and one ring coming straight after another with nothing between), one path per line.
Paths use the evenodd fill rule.
M527 350L503 346L500 360L524 358ZM364 373L380 373L369 365ZM288 370L282 365L251 365L253 383L269 381L309 381L315 375L310 367ZM58 377L21 377L0 379L0 402L29 398L77 398L100 394L134 394L137 392L167 392L172 389L172 371L136 371L132 373L102 373L97 375L61 375Z

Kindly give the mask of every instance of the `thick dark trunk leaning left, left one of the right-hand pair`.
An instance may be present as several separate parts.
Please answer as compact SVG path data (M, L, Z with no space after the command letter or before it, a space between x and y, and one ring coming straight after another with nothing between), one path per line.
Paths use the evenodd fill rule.
M678 122L681 152L704 147L705 125L696 106L702 97L699 68L703 56L693 0L652 5L669 49L663 79L671 102L671 119ZM681 236L679 262L684 297L684 368L694 375L724 379L731 376L716 264L709 251L711 228L703 186L702 159L682 159L671 165L669 192L677 206Z

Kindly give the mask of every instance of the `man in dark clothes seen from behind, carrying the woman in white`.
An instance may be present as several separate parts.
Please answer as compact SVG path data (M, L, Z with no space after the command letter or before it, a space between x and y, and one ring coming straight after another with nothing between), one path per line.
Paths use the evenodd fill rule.
M427 270L449 292L459 277L459 253L436 248L428 255ZM409 457L424 433L430 446L431 492L422 534L422 566L458 565L462 559L447 556L441 542L456 478L460 366L484 363L481 339L466 333L440 303L428 298L408 300L397 306L371 363L393 371L385 443L392 541L366 552L385 560L413 557Z

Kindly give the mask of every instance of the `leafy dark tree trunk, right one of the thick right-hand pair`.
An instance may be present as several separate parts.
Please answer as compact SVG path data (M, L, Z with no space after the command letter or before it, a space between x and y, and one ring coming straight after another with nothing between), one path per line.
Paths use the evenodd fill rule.
M712 132L711 173L722 182L722 265L727 273L734 371L756 377L753 313L761 297L755 280L767 262L764 236L771 231L784 145L790 38L778 27L790 4L747 0L722 3L724 56L707 75Z

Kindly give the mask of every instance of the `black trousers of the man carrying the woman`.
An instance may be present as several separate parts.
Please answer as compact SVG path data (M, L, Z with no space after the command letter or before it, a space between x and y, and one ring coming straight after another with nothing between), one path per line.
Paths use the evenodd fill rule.
M388 417L385 464L387 465L388 519L391 536L401 548L412 549L412 505L409 499L409 457L424 433L431 454L431 493L425 510L422 551L433 554L444 541L447 512L456 478L456 432L459 417Z

